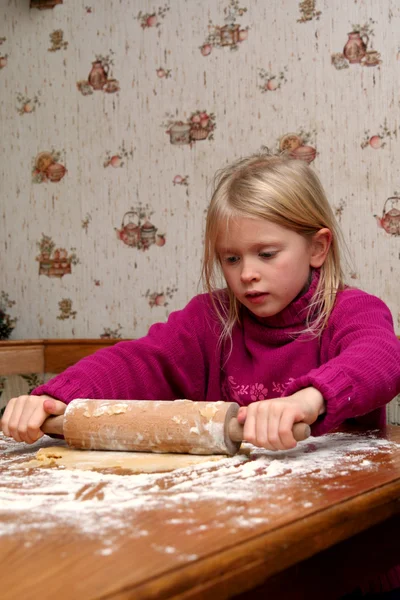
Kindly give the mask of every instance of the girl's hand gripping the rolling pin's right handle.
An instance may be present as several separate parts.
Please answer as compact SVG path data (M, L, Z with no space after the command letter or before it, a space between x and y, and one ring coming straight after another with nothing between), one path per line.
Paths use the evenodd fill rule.
M243 440L267 450L287 450L297 445L292 434L295 423L314 423L325 412L324 398L313 387L286 398L253 402L239 409L238 421L244 423Z

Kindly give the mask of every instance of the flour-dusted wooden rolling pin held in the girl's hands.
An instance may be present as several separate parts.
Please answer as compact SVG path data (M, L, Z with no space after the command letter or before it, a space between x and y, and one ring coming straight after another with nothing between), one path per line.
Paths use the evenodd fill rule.
M87 400L46 419L44 433L63 435L72 448L183 454L235 454L243 440L236 402L191 400ZM297 441L310 435L295 423Z

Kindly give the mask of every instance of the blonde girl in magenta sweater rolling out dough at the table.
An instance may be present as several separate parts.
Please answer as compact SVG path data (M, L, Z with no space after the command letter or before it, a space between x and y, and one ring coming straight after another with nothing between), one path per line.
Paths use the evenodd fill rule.
M296 445L296 422L313 435L348 419L383 426L400 392L400 342L385 304L344 285L339 232L311 168L255 155L224 169L205 237L208 294L10 400L4 434L36 441L74 398L235 400L244 439L271 450Z

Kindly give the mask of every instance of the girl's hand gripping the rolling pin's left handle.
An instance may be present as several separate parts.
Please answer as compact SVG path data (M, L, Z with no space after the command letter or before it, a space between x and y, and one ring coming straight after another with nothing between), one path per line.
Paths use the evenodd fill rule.
M11 398L1 419L1 429L16 442L33 444L44 434L41 426L49 415L64 414L67 406L50 396Z

